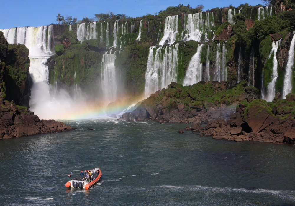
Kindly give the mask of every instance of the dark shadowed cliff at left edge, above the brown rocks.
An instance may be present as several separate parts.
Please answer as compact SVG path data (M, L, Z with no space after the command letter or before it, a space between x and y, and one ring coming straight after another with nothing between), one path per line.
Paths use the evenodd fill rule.
M30 107L29 49L22 44L8 44L0 31L1 97Z

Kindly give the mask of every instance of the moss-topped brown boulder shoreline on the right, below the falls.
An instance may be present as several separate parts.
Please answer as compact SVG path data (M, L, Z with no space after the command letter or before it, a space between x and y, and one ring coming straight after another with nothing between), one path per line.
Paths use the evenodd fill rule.
M286 99L276 97L273 102L266 102L258 99L257 89L244 83L233 87L227 82L198 84L183 87L171 83L168 89L151 94L133 112L124 113L117 121L192 123L192 127L185 130L193 130L201 136L212 136L213 139L294 144L294 94L287 95ZM207 97L204 99L200 91L209 91L208 87L212 91L204 93L203 96ZM194 88L196 91L193 91ZM224 90L227 92L219 94ZM197 102L198 99L204 100ZM203 128L201 124L207 126ZM183 129L179 130L179 133L183 132Z

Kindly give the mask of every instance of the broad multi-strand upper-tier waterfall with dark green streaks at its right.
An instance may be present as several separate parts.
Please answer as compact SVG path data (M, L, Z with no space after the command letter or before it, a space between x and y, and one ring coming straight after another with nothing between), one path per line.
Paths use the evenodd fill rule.
M207 33L213 30L214 25L212 12L184 14L184 31L181 34L181 40L206 42L208 41Z

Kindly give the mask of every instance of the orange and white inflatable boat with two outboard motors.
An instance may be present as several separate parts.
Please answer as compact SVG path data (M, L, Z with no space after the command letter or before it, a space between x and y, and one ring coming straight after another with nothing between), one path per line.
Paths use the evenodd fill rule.
M71 171L79 171L80 175L71 179L71 174L72 174ZM85 170L85 171L71 170L71 171L69 175L70 180L67 183L65 183L65 187L89 189L90 187L95 185L101 177L101 170L98 167L92 170Z

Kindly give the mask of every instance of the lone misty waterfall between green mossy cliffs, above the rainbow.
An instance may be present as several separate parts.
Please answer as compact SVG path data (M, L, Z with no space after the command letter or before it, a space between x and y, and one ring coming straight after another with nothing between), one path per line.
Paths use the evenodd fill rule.
M117 98L117 79L115 67L116 54L103 54L101 71L101 88L104 100L113 102Z

